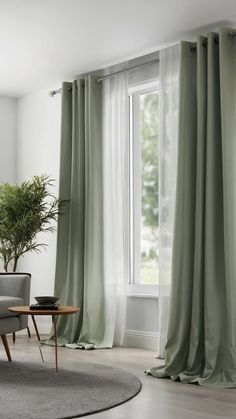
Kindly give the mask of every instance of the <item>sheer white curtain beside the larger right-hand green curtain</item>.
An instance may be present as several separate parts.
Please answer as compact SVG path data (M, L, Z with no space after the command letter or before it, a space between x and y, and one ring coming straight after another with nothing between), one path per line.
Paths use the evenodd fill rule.
M164 357L169 296L177 171L179 44L160 51L159 77L159 345Z

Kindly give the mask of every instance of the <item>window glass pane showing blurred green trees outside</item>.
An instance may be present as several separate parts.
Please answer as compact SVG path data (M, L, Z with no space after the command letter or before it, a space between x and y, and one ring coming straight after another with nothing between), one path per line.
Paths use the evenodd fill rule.
M158 283L158 95L140 95L141 284Z

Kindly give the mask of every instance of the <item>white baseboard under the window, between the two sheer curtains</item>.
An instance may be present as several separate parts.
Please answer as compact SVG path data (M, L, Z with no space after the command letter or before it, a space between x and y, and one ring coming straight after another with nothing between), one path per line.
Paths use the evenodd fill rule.
M157 351L159 333L126 330L125 346L130 348L150 349Z

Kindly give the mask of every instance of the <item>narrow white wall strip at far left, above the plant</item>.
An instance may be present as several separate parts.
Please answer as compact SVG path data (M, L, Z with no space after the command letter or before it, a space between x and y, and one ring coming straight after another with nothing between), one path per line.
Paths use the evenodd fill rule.
M16 99L0 97L0 182L16 181Z

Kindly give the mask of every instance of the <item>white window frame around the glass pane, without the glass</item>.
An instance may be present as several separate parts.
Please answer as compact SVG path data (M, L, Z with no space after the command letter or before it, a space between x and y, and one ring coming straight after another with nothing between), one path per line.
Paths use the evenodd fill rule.
M159 285L141 284L140 283L140 219L141 219L141 179L134 176L134 173L140 173L140 95L150 92L158 92L158 80L142 83L138 86L129 88L130 101L130 127L129 127L129 147L130 147L130 267L129 267L129 284L127 293L133 296L142 297L158 297ZM134 126L133 119L136 119ZM135 147L134 147L135 142ZM135 226L135 228L134 228Z

